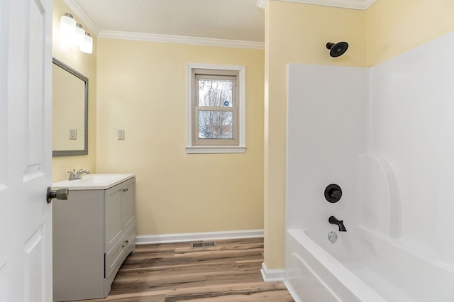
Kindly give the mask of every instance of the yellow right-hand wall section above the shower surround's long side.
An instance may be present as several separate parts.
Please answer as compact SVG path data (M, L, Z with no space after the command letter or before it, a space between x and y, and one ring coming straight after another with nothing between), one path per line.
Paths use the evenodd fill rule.
M453 0L378 0L366 12L367 66L454 30Z

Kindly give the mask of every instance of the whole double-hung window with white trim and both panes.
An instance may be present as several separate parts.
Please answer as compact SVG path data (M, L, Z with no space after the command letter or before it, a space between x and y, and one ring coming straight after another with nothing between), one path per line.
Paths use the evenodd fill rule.
M245 149L245 67L188 64L187 153Z

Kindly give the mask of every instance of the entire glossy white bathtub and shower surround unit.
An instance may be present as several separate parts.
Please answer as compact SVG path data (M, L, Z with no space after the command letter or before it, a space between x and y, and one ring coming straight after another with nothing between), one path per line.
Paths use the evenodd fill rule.
M449 33L371 68L289 65L285 271L299 298L454 301L453 47ZM323 196L333 183L338 203Z

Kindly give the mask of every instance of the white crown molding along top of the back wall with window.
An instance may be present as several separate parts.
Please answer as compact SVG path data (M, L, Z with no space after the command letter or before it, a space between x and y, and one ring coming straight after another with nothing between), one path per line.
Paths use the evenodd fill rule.
M192 44L205 46L220 46L220 47L236 47L236 48L252 48L265 49L265 43L255 41L240 41L240 40L223 40L213 38L196 38L186 37L182 35L156 35L151 33L131 33L126 31L115 30L100 30L98 38L121 39L121 40L137 40L158 43L177 43L177 44Z

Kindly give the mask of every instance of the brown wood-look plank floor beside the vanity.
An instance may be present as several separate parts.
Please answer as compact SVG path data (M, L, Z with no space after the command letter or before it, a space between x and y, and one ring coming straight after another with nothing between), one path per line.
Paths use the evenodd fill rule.
M263 281L262 238L214 241L216 247L137 245L109 296L85 301L294 301L282 282Z

